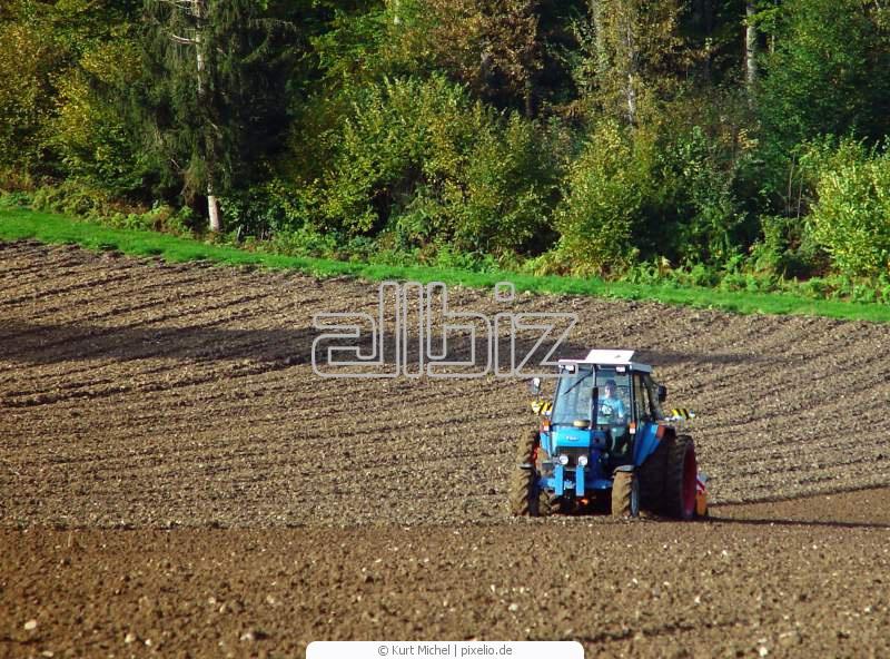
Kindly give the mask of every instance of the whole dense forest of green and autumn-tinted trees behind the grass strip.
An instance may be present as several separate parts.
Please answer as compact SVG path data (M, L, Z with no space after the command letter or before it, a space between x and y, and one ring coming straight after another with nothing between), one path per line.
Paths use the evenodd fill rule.
M879 0L3 0L0 205L890 304Z

